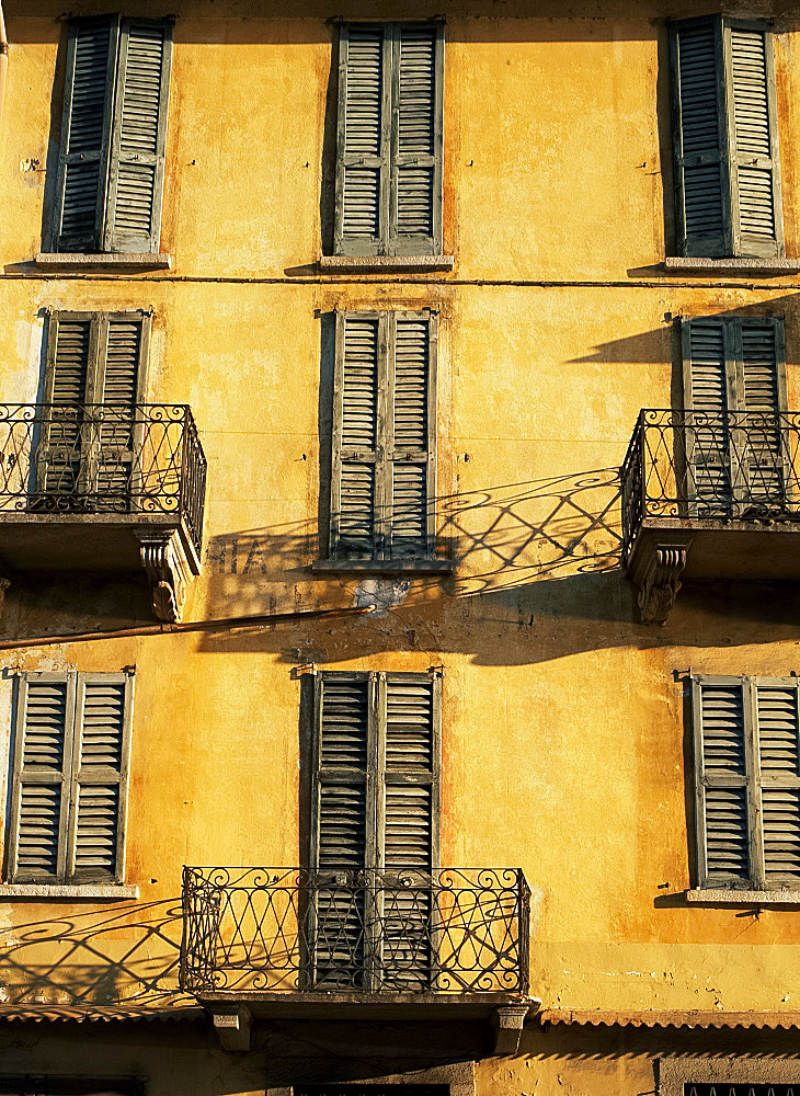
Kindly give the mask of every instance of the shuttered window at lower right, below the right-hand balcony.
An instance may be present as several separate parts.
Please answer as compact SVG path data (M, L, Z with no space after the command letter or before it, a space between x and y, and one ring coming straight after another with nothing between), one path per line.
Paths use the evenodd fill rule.
M696 676L698 884L800 888L798 680Z

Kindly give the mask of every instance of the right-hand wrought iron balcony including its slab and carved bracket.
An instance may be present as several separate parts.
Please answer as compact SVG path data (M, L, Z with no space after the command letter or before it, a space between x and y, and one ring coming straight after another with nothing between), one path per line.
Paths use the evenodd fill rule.
M645 623L666 620L682 578L800 578L798 412L641 411L621 492Z

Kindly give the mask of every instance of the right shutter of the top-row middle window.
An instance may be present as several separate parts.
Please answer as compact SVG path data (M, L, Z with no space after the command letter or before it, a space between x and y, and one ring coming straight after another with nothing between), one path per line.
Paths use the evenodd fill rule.
M442 251L442 75L444 24L392 30L389 251Z

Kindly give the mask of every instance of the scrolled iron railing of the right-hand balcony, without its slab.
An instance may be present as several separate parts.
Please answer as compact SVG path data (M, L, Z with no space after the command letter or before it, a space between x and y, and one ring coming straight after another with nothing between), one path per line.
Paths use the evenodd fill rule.
M800 413L641 411L621 489L626 560L649 518L800 522Z

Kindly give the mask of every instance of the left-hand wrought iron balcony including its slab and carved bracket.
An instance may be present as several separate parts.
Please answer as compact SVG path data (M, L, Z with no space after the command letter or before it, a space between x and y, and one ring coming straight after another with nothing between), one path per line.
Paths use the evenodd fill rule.
M205 484L183 404L0 404L0 559L12 570L144 563L158 615L174 619L199 570ZM159 582L170 590L157 597Z

